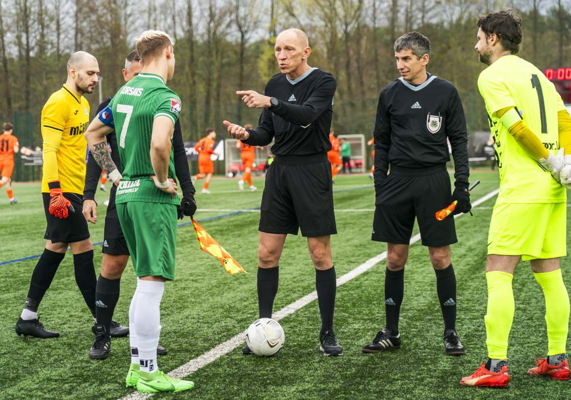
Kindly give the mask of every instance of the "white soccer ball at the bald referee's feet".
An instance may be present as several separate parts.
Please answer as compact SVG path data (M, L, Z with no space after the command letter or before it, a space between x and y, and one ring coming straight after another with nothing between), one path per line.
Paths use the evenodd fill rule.
M282 325L270 318L255 320L246 333L246 344L258 357L268 357L278 353L285 340L286 334Z

